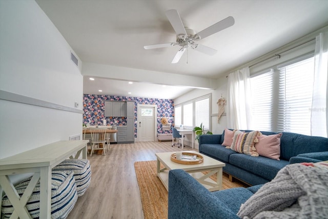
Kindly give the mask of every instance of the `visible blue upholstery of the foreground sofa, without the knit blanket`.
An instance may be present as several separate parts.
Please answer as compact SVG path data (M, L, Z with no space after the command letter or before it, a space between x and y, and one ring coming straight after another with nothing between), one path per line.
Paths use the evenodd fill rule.
M240 205L261 186L209 192L187 172L181 169L171 170L168 218L239 218L237 212Z

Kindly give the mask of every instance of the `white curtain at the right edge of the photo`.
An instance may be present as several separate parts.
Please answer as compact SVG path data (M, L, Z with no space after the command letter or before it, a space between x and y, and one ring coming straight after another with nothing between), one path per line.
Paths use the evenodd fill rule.
M327 137L328 32L316 37L311 135Z

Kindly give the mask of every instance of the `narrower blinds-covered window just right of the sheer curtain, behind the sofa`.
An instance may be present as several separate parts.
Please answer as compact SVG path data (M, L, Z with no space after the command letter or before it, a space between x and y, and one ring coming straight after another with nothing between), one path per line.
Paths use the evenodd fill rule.
M252 88L252 129L271 131L274 127L274 70L270 69L251 78Z

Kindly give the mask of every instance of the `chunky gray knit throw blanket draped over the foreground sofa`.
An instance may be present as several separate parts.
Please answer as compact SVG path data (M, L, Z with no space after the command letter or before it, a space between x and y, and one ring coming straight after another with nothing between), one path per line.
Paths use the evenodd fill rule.
M247 218L328 218L328 163L291 164L241 205Z

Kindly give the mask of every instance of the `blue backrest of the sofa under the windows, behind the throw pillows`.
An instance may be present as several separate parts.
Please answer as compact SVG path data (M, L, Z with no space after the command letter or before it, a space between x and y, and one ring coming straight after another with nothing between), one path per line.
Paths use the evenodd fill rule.
M229 129L232 130L233 129ZM251 132L254 130L240 130ZM260 131L262 134L271 135L279 132ZM220 138L220 144L224 140L224 131ZM310 146L309 146L310 145ZM291 157L302 153L328 151L328 138L297 134L292 132L282 132L280 138L280 159L289 161Z

